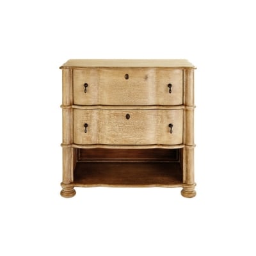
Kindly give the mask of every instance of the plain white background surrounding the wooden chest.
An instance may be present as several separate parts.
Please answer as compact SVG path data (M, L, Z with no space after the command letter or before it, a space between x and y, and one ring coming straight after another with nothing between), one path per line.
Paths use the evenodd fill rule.
M1 1L1 255L255 255L255 1ZM60 196L70 58L187 58L197 195ZM39 164L38 164L39 163Z

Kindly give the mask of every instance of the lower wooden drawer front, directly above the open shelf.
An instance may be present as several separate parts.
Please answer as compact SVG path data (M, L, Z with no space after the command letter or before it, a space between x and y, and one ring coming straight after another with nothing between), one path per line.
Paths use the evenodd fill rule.
M74 109L74 143L182 144L183 110Z

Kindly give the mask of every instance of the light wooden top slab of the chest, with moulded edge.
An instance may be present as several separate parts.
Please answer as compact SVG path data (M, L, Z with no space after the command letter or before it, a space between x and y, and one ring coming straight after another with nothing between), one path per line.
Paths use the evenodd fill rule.
M172 67L172 68L195 68L188 60L177 59L155 59L155 60L68 60L60 68L86 68L86 67Z

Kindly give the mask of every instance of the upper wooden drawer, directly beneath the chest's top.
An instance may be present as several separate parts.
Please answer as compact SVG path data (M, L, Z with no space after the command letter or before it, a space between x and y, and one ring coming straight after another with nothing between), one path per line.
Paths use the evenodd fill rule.
M77 105L183 103L181 68L84 68L74 69L73 77Z

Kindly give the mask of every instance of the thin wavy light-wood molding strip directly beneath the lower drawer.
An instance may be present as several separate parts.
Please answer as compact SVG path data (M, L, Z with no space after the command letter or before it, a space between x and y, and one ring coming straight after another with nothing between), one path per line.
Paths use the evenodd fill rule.
M63 145L61 145L63 147ZM174 149L174 148L184 148L184 144L178 145L106 145L106 144L88 144L88 145L80 145L80 144L72 144L73 148L122 148L122 149L146 149L146 148L166 148L166 149Z

